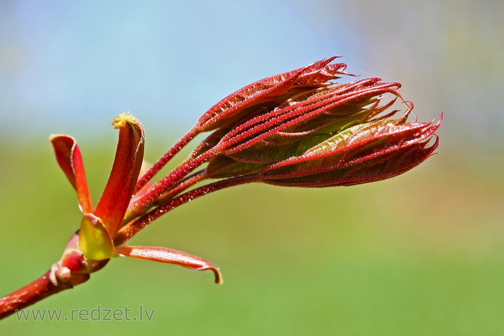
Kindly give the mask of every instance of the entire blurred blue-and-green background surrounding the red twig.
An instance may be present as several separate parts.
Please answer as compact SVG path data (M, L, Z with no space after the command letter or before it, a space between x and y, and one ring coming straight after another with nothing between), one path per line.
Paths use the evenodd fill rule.
M362 77L401 82L420 120L444 109L445 122L438 154L402 176L222 190L132 240L214 262L223 286L117 258L33 306L138 316L142 305L151 321L11 316L0 330L504 334L503 13L498 1L1 2L0 295L42 275L80 223L51 133L78 139L96 201L122 110L143 121L153 162L227 94L332 55Z

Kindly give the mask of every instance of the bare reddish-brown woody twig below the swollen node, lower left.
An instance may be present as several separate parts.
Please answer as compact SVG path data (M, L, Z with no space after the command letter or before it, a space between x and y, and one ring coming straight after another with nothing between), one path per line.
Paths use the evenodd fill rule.
M47 271L42 277L25 287L0 298L0 319L5 318L16 310L21 310L32 305L50 295L61 292L62 290L72 288L58 283L55 285L50 280L51 270Z

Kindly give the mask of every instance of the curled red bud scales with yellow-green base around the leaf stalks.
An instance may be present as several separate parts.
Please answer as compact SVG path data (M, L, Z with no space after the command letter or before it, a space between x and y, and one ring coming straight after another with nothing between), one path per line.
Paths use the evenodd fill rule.
M132 192L142 167L144 129L136 118L127 113L119 115L112 124L119 129L119 141L112 172L95 210L91 207L84 167L75 140L67 136L51 137L57 161L74 187L76 187L81 209L84 213L81 228L77 234L78 239L77 241L72 240L71 244L67 246L66 258L60 262L60 266L74 266L76 259L78 260L80 257L82 262L78 262L79 270L75 271L81 274L83 270L81 270L80 265L85 264L86 272L92 273L95 268L102 267L103 262L98 260L107 260L116 255L145 259L144 256L150 253L151 256L147 258L149 260L180 264L197 270L214 271L216 282L220 283L220 274L213 264L190 254L163 247L130 246L116 248L114 246L113 238L117 234L123 222L124 214L132 200ZM80 193L80 190L84 191ZM146 190L147 188L141 189L134 197L140 196ZM82 206L82 204L86 206ZM153 250L156 251L155 254L151 253ZM72 251L70 253L73 255L72 259L68 259L68 251ZM184 261L187 258L193 258L198 262Z

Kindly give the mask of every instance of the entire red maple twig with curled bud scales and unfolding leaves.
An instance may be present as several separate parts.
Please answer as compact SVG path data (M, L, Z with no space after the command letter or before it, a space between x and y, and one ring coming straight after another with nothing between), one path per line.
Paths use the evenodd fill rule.
M399 83L380 78L333 83L349 75L346 64L329 64L335 58L265 78L229 95L152 166L142 161L142 125L130 114L119 115L112 122L119 129L115 160L96 208L76 141L51 137L56 160L77 191L83 213L80 229L50 271L0 299L0 317L87 281L115 256L212 271L215 282L221 283L218 268L204 259L166 247L124 244L158 217L219 189L250 182L361 184L402 174L431 156L443 114L435 123L407 122L413 104L399 95ZM389 120L398 112L390 110L397 99L408 107L400 118ZM182 163L152 183L183 146L208 131L212 133ZM212 182L205 184L209 179Z

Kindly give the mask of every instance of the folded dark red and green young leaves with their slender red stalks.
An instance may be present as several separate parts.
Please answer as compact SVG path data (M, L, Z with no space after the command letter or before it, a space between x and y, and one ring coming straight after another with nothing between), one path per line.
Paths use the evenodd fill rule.
M116 246L158 217L216 190L251 182L361 184L399 175L432 155L443 114L436 123L406 122L413 104L398 93L399 83L375 77L334 83L350 75L345 64L329 64L335 58L265 78L210 108L139 179L136 189L196 133L212 131L187 159L132 200L124 220L129 223L114 238ZM392 109L398 99L407 109L390 119L399 112ZM217 181L202 185L207 179Z

